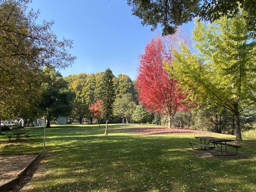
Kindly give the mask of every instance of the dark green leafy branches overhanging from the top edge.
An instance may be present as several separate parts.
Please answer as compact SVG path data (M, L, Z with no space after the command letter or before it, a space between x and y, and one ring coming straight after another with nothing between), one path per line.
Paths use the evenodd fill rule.
M198 17L204 21L216 21L220 17L236 17L239 8L243 9L245 28L252 36L256 35L256 7L254 0L216 1L216 0L128 0L132 14L139 17L142 25L158 24L163 27L163 35L174 34L177 27Z

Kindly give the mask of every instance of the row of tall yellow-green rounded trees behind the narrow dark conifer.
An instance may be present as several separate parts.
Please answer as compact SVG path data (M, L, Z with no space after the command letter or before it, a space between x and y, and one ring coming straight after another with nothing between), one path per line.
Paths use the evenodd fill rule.
M94 103L102 95L103 72L78 75L69 75L64 79L68 81L68 89L75 93L76 97L73 101L73 112L70 119L78 119L82 123L84 118L92 116L88 107ZM132 100L136 101L136 91L131 78L124 74L119 74L113 78L114 90L117 98L121 98L126 93L132 94Z

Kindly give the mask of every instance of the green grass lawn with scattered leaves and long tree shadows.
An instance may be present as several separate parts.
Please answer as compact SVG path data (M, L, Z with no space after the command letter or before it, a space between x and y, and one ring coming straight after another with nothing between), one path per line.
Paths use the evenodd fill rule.
M256 191L256 139L239 143L243 158L198 157L188 144L198 134L138 135L131 126L110 124L107 136L104 125L48 128L47 156L26 191ZM43 127L22 131L30 142L0 143L1 154L43 153Z

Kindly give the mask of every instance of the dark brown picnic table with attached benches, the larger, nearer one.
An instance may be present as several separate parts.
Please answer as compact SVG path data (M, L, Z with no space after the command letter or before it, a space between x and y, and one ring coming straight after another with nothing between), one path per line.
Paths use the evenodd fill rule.
M237 148L242 147L240 145L228 144L227 143L227 142L234 141L233 139L223 139L223 138L209 137L209 136L198 136L198 137L195 137L195 138L200 139L201 144L190 142L190 144L192 145L192 148L193 148L193 144L201 146L201 150L206 150L206 148L210 148L210 151L211 151L211 154L212 154L212 149L214 149L215 146L217 146L220 149L220 152L221 152L220 156L236 155L237 154ZM202 143L202 140L204 140L204 144ZM206 140L208 141L207 144L206 144ZM213 143L214 147L211 148L211 146L209 146L209 143ZM225 154L223 154L223 147L222 147L223 145L225 146ZM227 146L235 147L236 148L236 153L235 154L228 154ZM198 149L194 149L194 150L198 150ZM212 155L214 155L214 154L212 154ZM214 156L219 156L219 155L214 155Z

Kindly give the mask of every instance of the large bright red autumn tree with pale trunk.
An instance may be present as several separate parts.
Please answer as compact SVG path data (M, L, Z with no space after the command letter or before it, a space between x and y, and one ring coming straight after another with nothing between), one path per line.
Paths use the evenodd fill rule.
M178 35L152 38L145 46L145 53L139 56L135 82L138 100L148 110L167 115L169 128L176 111L187 109L189 103L188 93L182 93L179 82L164 70L163 61L172 65L174 50L179 46Z

